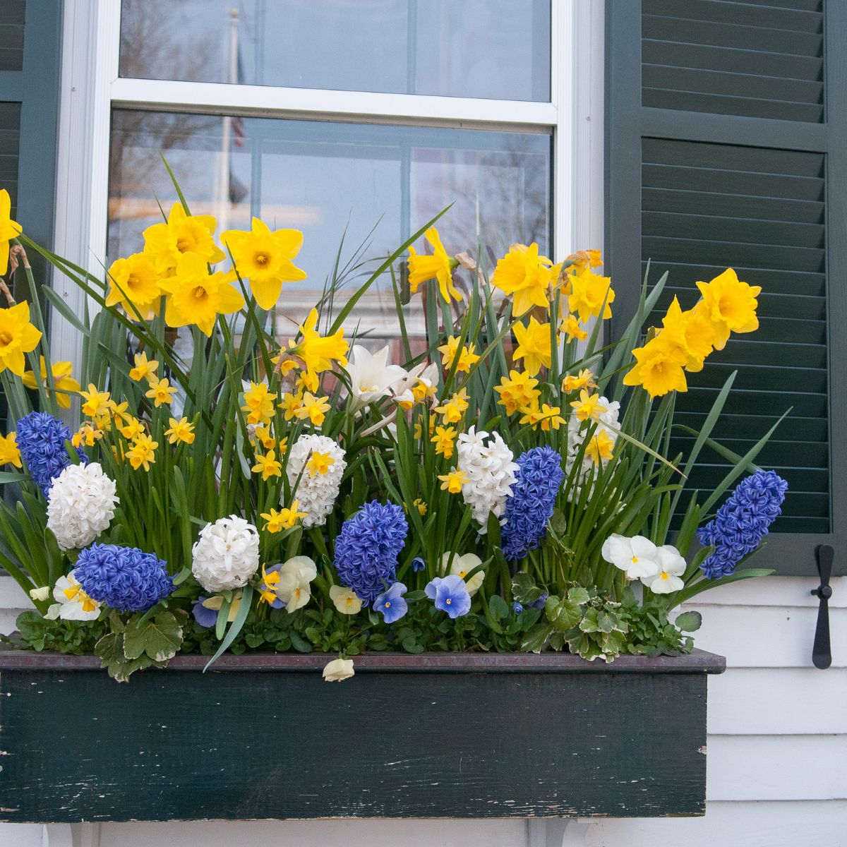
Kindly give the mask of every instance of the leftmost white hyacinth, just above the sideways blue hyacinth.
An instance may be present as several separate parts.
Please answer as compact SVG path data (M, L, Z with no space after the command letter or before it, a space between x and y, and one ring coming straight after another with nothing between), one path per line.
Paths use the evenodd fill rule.
M86 547L108 529L118 502L114 480L97 462L69 465L47 495L47 529L62 550Z

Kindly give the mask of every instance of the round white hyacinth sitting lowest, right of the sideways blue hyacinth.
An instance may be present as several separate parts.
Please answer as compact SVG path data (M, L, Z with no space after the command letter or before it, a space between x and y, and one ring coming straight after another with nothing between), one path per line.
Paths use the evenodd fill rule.
M191 548L191 573L211 592L241 588L259 567L259 534L230 515L207 523Z

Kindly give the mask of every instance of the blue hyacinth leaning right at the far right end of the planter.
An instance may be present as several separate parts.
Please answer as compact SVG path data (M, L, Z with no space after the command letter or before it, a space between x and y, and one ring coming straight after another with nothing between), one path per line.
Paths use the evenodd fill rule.
M739 482L715 518L697 530L700 544L715 547L700 565L706 579L734 573L740 560L756 550L781 514L788 487L775 471L756 471Z

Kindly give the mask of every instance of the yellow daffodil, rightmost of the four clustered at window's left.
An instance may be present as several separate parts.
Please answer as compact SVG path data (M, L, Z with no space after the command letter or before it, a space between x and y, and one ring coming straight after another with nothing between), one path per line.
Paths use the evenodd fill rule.
M252 230L226 230L220 240L230 248L241 279L250 280L250 290L263 309L276 305L284 282L306 279L306 271L293 261L303 245L300 230L271 232L267 224L253 218Z

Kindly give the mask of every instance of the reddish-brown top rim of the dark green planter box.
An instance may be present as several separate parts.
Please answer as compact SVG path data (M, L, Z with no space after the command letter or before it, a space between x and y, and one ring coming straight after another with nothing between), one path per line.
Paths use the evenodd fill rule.
M220 656L210 672L315 671L335 654L231 653ZM174 656L164 670L202 671L210 656ZM695 648L688 656L618 656L611 664L587 662L569 653L365 653L352 656L356 673L723 673L723 656ZM70 656L44 650L15 650L0 645L0 671L90 671L101 668L97 656ZM105 673L105 672L104 672Z

